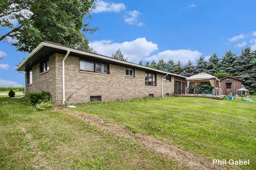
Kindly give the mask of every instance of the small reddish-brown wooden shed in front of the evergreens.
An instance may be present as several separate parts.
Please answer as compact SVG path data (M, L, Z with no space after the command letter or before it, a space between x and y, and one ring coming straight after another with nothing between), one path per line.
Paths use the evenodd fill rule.
M244 80L242 79L230 76L220 79L220 88L222 89L222 94L229 95L229 93L231 92L232 95L242 95L242 91L236 90L242 88L243 82Z

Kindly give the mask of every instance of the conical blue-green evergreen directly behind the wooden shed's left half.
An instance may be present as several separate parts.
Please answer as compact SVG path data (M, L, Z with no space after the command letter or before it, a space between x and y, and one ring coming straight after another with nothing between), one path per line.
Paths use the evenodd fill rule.
M220 72L234 74L236 72L234 61L236 61L236 54L231 51L226 52L221 60Z

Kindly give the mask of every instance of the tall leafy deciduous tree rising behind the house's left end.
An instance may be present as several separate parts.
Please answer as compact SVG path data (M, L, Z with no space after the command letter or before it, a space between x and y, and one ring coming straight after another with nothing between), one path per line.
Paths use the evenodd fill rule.
M94 32L84 17L90 18L94 0L1 0L0 25L8 31L0 41L11 37L19 51L31 52L42 41L53 41L71 47L91 50L81 32ZM3 32L3 31L2 31Z

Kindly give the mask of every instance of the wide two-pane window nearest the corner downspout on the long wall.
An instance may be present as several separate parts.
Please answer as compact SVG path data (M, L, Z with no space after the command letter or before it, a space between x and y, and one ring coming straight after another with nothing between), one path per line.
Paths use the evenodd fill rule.
M98 73L105 73L105 74L108 73L107 64L89 62L85 60L79 61L79 68L82 71L91 71L91 72L98 72Z

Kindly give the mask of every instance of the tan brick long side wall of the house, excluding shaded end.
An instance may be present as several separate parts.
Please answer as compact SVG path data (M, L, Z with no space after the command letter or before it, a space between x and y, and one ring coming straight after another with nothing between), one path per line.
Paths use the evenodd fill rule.
M61 59L63 55L57 54L57 77L61 79ZM125 76L125 67L109 65L109 74L98 74L79 71L79 58L68 56L65 61L65 88L66 98L73 95L69 103L89 102L90 96L101 96L102 101L125 100L133 98L145 98L149 94L154 97L162 96L162 74L157 74L157 86L145 86L145 71L135 70L135 77ZM62 81L62 80L61 80ZM61 94L61 81L58 86L57 95ZM59 86L60 85L60 86ZM171 82L164 82L164 96L174 92L174 78ZM57 97L57 101L61 101Z

